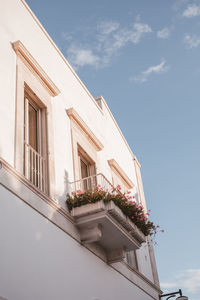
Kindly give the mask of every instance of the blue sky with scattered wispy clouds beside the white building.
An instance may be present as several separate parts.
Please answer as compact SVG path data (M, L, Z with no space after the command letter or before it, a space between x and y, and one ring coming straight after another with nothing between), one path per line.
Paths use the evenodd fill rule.
M200 299L200 0L27 0L134 154L164 292Z

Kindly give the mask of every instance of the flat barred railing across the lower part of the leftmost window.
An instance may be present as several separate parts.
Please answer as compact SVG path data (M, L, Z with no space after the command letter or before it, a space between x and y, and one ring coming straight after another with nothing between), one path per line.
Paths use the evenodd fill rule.
M29 144L24 143L25 177L43 192L47 192L47 164L44 157Z

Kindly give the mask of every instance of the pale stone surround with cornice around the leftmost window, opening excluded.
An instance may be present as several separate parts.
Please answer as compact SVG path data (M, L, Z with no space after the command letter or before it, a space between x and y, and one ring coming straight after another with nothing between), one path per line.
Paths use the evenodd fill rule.
M20 41L12 44L16 53L15 151L14 167L24 175L24 97L30 94L42 108L46 123L47 182L45 194L55 200L55 166L51 99L60 93L45 71ZM45 109L44 109L45 108ZM31 184L31 183L30 183ZM37 188L37 187L36 187Z

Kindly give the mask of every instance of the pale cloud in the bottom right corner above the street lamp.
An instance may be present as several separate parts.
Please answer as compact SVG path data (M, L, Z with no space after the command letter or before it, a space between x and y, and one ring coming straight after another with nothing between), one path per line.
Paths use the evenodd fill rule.
M178 274L173 281L162 282L161 288L182 288L184 294L191 293L194 299L200 299L200 269L189 269Z

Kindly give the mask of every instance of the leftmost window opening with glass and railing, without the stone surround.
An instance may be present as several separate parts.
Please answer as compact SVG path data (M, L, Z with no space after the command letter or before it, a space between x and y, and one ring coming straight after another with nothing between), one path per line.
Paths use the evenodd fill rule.
M47 192L46 113L25 90L24 98L24 175L32 184Z

